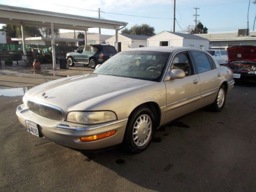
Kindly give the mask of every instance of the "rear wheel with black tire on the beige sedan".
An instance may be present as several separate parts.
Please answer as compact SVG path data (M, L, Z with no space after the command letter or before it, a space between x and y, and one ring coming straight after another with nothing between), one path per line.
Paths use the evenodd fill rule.
M226 102L226 94L226 87L222 84L217 93L214 103L211 104L212 111L220 112L224 108Z

